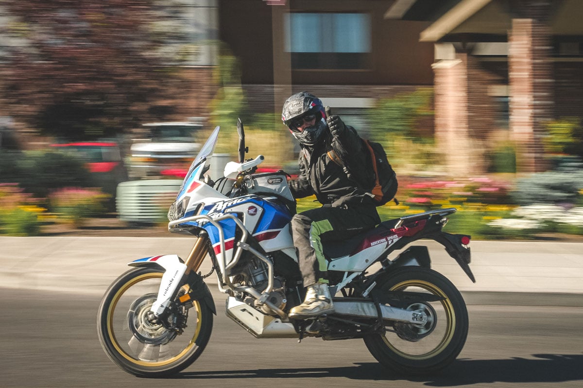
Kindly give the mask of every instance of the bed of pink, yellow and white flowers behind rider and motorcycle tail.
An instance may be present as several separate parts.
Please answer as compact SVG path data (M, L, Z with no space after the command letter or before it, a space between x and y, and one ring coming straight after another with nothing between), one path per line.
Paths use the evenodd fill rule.
M465 180L411 181L399 179L396 197L378 207L382 220L440 208L455 208L445 232L472 235L473 239L527 239L540 233L583 234L583 189L577 205L535 204L518 207L510 200L511 186L487 177ZM319 207L315 197L298 201L297 211Z

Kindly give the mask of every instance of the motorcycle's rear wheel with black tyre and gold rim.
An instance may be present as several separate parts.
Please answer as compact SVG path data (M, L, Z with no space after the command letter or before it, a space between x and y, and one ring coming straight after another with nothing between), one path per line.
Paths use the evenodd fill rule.
M436 302L412 302L402 308L423 312L424 325L395 322L384 334L368 334L364 343L381 364L404 373L431 373L445 368L461 352L468 336L468 310L454 284L426 268L399 268L380 285L381 291L429 293Z

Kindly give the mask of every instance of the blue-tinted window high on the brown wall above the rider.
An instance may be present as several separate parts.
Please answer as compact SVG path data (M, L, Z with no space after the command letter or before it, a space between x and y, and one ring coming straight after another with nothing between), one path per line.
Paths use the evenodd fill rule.
M368 69L371 21L367 13L288 13L285 49L293 69Z

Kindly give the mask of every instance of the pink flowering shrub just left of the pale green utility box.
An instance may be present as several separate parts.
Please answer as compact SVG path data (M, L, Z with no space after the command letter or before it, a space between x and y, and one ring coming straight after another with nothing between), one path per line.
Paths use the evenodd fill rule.
M102 215L108 198L97 188L65 187L53 191L48 200L60 219L80 225L87 218Z

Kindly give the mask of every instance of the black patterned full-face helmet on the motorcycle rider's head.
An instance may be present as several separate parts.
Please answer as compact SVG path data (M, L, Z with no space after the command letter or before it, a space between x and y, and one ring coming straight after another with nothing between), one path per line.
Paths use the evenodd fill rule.
M314 125L299 129L305 116L315 115ZM314 145L325 133L326 112L319 98L308 92L300 92L286 99L283 104L282 121L291 131L291 134L305 145Z

